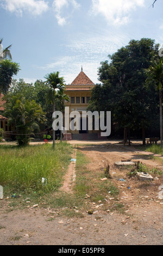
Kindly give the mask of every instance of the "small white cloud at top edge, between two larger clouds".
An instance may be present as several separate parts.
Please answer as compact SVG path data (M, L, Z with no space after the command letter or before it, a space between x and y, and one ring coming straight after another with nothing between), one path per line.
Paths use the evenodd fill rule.
M68 7L71 8L71 11L68 10L67 15L63 14L65 13L64 8L68 9ZM76 0L54 0L53 10L55 13L55 17L58 21L58 25L64 26L66 24L66 20L70 16L70 13L72 13L75 9L78 9L79 7L80 4L78 4Z

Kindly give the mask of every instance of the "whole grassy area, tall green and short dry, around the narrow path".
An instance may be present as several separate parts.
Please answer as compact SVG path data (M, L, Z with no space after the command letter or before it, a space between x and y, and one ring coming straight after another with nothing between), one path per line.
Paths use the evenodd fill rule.
M97 169L96 172L92 172L87 167L89 159L80 150L77 150L76 155L76 181L73 184L73 193L59 190L72 152L72 145L64 142L57 143L55 150L52 144L27 147L0 145L0 185L4 189L4 198L12 198L9 210L27 207L26 198L30 198L31 206L46 205L54 209L64 209L62 213L67 216L82 217L82 209L90 210L92 202L105 203L104 198L108 192L115 197L117 207L117 187L111 179L99 182L105 176L104 171ZM47 179L46 184L42 184L42 178ZM89 197L86 198L87 194ZM13 198L11 195L21 197Z

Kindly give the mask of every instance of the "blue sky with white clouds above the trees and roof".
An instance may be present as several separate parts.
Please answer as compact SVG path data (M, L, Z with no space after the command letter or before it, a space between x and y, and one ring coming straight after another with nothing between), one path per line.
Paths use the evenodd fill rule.
M163 45L163 1L0 0L0 39L21 66L14 78L35 82L59 71L66 84L81 67L98 83L100 63L131 39ZM149 8L150 7L150 8Z

